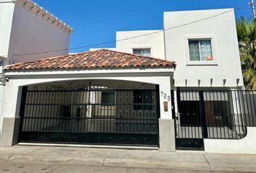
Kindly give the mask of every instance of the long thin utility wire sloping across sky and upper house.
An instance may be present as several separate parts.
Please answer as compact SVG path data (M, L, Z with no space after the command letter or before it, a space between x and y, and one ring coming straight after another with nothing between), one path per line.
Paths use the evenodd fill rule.
M234 9L240 10L240 9L243 9L244 7L246 7L246 6L249 6L249 4L241 6L241 7L236 7ZM137 36L134 36L134 37L127 37L127 38L120 39L120 40L112 40L112 41L108 41L108 42L95 43L95 44L92 44L92 45L83 45L83 46L74 47L74 48L63 48L63 49L59 49L59 50L49 50L49 51L35 52L35 53L13 54L13 55L8 55L8 56L29 56L29 55L38 55L38 54L42 54L42 53L54 53L54 52L61 52L61 51L65 51L65 50L76 50L76 49L81 49L81 48L90 48L90 47L93 47L93 46L106 45L106 44L109 44L109 43L117 43L117 42L121 42L121 41L124 41L124 40L132 40L132 39L135 39L135 38L138 38L138 37L153 35L153 34L156 34L156 33L159 33L159 32L164 32L164 31L167 31L167 30L174 30L174 29L179 28L179 27L184 27L184 26L187 26L187 25L195 24L197 22L202 22L204 20L208 20L208 19L211 19L211 18L214 18L214 17L221 16L223 14L232 12L232 11L234 11L234 9L228 10L226 12L221 12L219 14L216 14L216 15L213 15L213 16L210 16L210 17L205 17L203 19L198 19L198 20L195 20L193 22L188 22L188 23L185 23L185 24L182 24L182 25L178 25L176 27L169 27L167 29L163 29L163 30L159 30L159 31L155 31L155 32L150 32L150 33L147 33L147 34L144 34L144 35L137 35ZM0 56L0 57L8 57L8 56Z

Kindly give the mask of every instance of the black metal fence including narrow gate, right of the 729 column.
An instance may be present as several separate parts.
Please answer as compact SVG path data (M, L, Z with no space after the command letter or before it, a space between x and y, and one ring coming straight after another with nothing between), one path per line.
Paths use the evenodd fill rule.
M204 149L204 138L240 139L256 125L255 91L177 90L176 148ZM255 120L254 120L255 119Z

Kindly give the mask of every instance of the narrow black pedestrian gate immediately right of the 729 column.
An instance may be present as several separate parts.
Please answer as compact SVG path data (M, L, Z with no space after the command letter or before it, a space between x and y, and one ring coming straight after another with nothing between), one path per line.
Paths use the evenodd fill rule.
M198 92L177 91L177 110L175 116L176 126L176 148L197 148L203 149L202 116L200 112L199 97L196 102L191 97L195 97Z

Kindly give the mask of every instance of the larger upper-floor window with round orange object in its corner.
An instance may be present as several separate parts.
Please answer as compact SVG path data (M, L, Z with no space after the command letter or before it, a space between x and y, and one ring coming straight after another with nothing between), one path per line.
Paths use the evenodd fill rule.
M189 40L189 61L213 61L211 40Z

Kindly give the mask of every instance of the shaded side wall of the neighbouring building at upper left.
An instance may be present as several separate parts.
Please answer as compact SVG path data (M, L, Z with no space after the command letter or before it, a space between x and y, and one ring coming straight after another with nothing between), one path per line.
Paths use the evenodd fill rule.
M9 28L6 29L9 31ZM8 43L8 42L7 42ZM15 4L9 54L22 54L69 48L69 35L50 22ZM69 50L30 56L9 56L9 63L67 55Z

